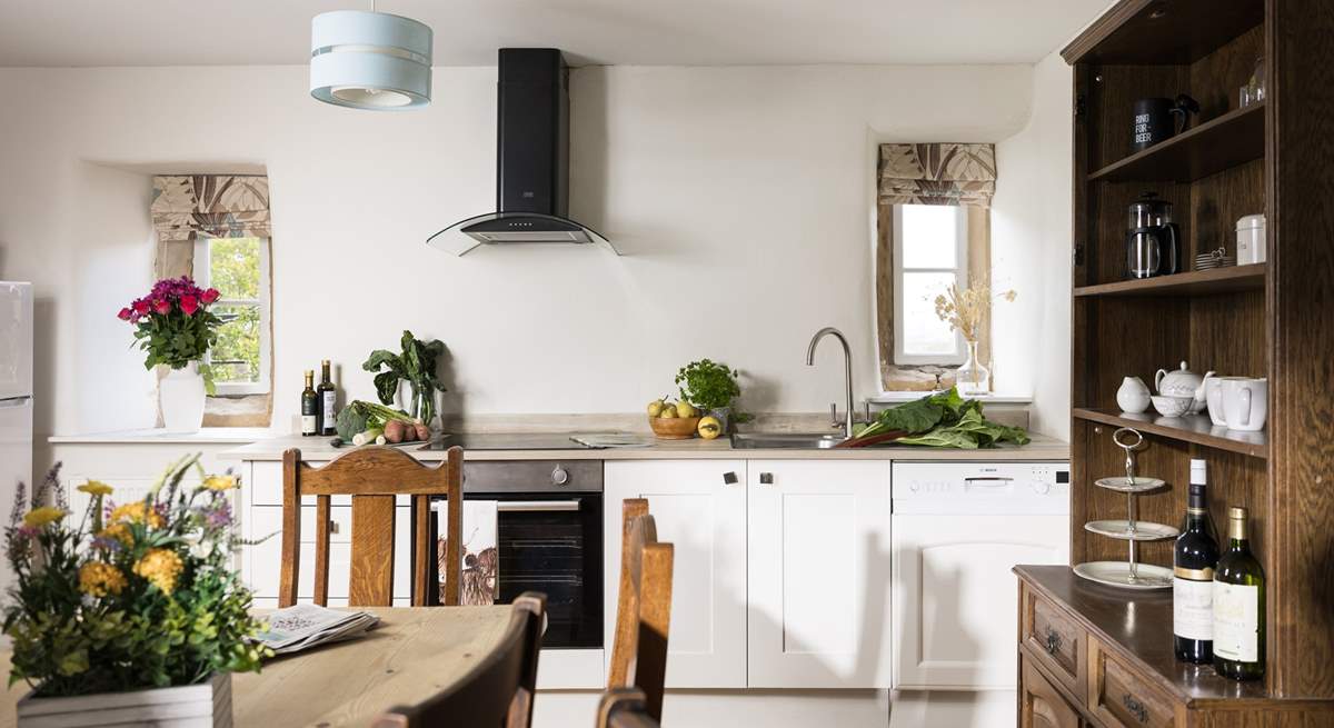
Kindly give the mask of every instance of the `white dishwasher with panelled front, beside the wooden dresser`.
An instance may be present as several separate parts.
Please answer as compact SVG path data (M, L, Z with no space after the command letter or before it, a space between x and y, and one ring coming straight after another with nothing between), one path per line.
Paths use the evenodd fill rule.
M1015 564L1070 560L1069 463L895 463L894 687L1014 689Z

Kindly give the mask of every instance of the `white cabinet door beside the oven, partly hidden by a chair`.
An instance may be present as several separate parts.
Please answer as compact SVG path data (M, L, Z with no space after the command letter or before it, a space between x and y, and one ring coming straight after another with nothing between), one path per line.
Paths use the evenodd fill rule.
M667 687L746 687L746 461L608 461L604 488L604 652L620 579L622 501L648 499L674 545Z

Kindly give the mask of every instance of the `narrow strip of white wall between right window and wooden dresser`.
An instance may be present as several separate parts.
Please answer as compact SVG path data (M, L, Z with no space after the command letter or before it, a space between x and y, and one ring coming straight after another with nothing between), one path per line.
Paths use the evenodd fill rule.
M992 285L1015 288L992 309L1000 381L1033 392L1031 428L1070 439L1071 69L1058 53L1034 67L1033 113L996 145ZM1006 369L1005 367L1019 367Z

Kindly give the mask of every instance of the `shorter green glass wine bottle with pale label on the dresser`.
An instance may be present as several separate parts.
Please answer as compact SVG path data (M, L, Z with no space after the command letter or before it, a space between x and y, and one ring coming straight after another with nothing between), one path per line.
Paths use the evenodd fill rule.
M1233 680L1265 675L1265 571L1250 552L1246 509L1227 512L1227 551L1214 569L1214 671Z

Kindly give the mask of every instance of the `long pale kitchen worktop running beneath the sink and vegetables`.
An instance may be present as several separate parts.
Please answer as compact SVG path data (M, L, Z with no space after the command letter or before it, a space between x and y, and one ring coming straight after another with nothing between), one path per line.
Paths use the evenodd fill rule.
M257 440L219 453L221 460L281 460L283 451L299 448L305 460L327 460L354 448L334 448L331 437L289 435ZM860 449L736 449L726 437L716 440L655 440L643 436L646 447L599 449L491 449L468 451L468 460L1069 460L1070 444L1034 435L1023 447L994 449L940 449L890 445ZM444 451L424 451L420 443L402 445L419 460L444 460Z

